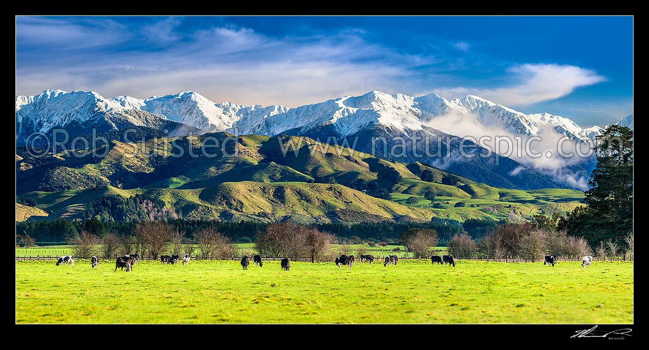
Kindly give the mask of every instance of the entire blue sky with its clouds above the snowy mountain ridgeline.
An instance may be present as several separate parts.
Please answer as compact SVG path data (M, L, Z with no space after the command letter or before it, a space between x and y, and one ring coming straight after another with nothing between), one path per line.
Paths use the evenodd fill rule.
M633 112L633 18L16 17L16 95L45 89L289 107L471 94L603 125Z

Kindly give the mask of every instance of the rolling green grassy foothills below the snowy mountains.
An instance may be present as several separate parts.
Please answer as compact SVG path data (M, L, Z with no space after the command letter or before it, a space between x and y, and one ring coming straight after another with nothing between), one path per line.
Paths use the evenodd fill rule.
M219 140L228 136L210 135ZM307 137L284 136L280 141L245 135L225 148L235 157L227 157L220 148L210 152L213 156L204 156L200 152L204 137L195 137L193 143L187 138L175 141L182 156L177 149L170 152L171 139L162 139L136 144L111 141L105 157L64 153L17 157L16 191L35 198L52 219L81 218L90 202L134 194L162 200L174 215L186 218L299 222L531 218L571 210L583 198L583 192L569 189L502 189L461 177L456 185L445 185L441 179L449 173L444 170L419 162L361 157ZM131 156L134 147L138 153ZM378 180L377 172L384 167L395 169L402 180ZM434 181L422 181L423 170L430 170ZM337 185L313 183L327 178L335 178ZM392 201L356 191L358 179L386 188ZM434 202L424 198L427 192L435 194ZM418 198L417 204L406 205L410 196ZM454 207L457 202L465 206Z

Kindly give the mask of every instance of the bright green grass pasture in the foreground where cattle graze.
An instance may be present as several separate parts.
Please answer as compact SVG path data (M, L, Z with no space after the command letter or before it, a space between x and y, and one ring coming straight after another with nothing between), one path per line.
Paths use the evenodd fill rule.
M17 323L632 323L633 262L16 262ZM386 317L389 316L389 317Z

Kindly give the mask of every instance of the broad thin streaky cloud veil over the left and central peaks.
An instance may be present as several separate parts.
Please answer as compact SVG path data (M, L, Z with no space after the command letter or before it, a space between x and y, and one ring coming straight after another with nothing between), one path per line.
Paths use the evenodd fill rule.
M91 48L72 47L92 41L83 26L55 19L24 19L20 40L40 41L49 30L67 31L65 38L49 37L52 45L79 50L77 59L64 55L47 62L25 52L16 76L17 94L36 94L45 88L92 89L104 96L149 97L186 89L215 100L245 104L300 104L373 89L410 93L421 82L414 67L439 63L432 56L404 54L363 39L363 32L343 30L330 35L274 38L252 29L222 26L179 34L177 19L142 27L106 27L110 36ZM86 25L103 37L102 25ZM64 26L58 29L59 26ZM133 37L156 49L132 49ZM130 39L125 39L130 38ZM125 45L115 45L128 41ZM73 61L75 64L69 64ZM27 62L31 64L27 64Z

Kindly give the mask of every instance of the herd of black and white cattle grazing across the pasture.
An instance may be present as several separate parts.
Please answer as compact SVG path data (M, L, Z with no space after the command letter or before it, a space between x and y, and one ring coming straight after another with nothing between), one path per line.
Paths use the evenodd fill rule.
M554 266L554 264L557 263L557 258L558 255L545 255L545 261L543 262L544 265L546 266ZM174 255L160 255L160 262L164 264L165 262L167 264L177 264L178 261L180 260L180 256L177 254ZM342 265L347 266L347 270L352 268L354 266L354 255L340 255L339 257L336 257L336 265L338 266L338 270L340 270ZM387 255L386 259L384 259L383 266L387 265L396 265L397 261L399 258L397 255ZM138 254L127 254L124 255L123 257L117 257L117 260L115 261L115 271L117 272L117 268L121 268L121 271L124 271L124 269L127 270L127 272L130 272L133 270L133 265L138 264L138 261L140 261L140 255ZM430 261L435 264L448 264L448 266L454 266L455 267L455 261L453 260L453 257L451 255L433 255L430 257ZM263 261L262 261L262 256L257 254L252 257L252 262L254 263L255 266L259 265L260 267L263 266ZM372 264L374 262L374 257L372 255L361 255L360 256L360 262L361 265L363 262L369 262L369 264ZM587 255L582 258L582 267L586 267L586 265L591 266L591 263L593 262L593 257L590 255ZM182 264L186 265L190 263L190 255L185 254L182 257ZM75 259L73 255L63 255L62 257L58 258L58 261L56 261L56 266L59 266L61 264L75 264ZM90 257L90 264L92 264L92 267L95 268L97 265L99 265L99 257L96 255L93 255ZM246 255L245 257L241 258L241 267L243 267L243 270L248 270L248 265L250 264L250 259ZM282 266L282 271L286 270L288 271L289 268L291 267L291 261L289 261L288 258L284 258L280 261L280 266Z

